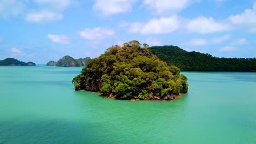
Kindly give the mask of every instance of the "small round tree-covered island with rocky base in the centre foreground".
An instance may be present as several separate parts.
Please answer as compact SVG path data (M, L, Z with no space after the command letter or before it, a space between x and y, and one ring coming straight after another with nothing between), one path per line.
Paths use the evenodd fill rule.
M118 99L171 100L188 92L187 77L177 67L169 67L138 41L112 46L91 59L74 77L75 90L101 92Z

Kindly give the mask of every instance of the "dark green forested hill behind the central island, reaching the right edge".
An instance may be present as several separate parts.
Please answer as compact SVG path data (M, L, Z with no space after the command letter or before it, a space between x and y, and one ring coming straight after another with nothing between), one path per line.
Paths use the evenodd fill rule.
M256 58L218 58L177 46L153 46L149 50L182 71L256 71Z

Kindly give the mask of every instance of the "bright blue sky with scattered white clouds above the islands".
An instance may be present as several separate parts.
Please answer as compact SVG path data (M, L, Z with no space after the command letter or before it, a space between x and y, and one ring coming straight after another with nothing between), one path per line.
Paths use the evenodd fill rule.
M130 40L256 57L256 1L0 0L0 59L94 58Z

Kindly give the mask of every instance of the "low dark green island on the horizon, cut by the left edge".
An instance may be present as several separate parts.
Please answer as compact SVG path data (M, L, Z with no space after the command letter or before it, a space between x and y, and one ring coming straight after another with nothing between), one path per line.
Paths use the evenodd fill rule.
M15 58L5 58L4 60L0 61L0 65L10 65L10 66L36 66L33 62L21 62Z

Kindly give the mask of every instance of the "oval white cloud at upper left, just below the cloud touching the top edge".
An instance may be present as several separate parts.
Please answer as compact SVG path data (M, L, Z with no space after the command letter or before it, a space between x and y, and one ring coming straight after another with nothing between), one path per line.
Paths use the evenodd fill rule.
M28 22L44 23L44 22L53 22L53 21L61 20L62 17L63 15L60 13L43 10L43 11L28 13L26 16L26 20Z

